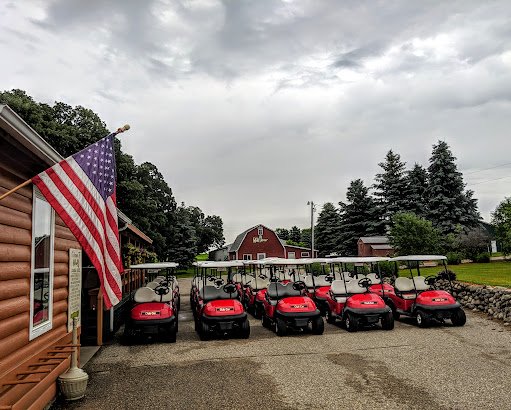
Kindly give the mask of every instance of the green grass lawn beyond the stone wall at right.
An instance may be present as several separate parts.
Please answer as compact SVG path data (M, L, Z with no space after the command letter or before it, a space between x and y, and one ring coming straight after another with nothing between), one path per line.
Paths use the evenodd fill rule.
M480 285L505 286L511 288L511 263L468 263L464 265L448 265L448 269L457 275L460 282L476 283ZM442 270L442 266L421 268L422 276L433 275ZM399 271L400 276L410 276L408 269ZM414 271L415 274L415 271Z

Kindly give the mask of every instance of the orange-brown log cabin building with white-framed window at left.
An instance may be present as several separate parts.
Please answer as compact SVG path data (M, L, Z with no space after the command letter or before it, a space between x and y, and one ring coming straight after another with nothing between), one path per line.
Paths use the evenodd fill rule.
M11 108L0 104L0 195L62 159ZM122 213L119 227L121 243L151 243ZM0 200L0 410L44 408L57 394L58 376L69 368L70 249L81 247L35 185ZM87 258L82 256L85 268ZM83 269L82 314L84 305L95 311L96 341L101 344L103 329L115 325L115 311L104 311L95 271L91 278L96 276L98 286L84 295L85 274ZM144 280L143 271L127 269L123 300Z

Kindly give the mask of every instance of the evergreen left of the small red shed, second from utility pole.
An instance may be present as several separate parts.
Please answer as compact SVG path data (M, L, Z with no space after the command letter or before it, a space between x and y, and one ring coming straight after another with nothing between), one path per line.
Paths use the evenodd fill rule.
M346 192L346 203L339 202L341 235L339 252L343 256L357 255L357 241L362 236L382 235L384 226L380 211L369 189L361 179L351 181Z

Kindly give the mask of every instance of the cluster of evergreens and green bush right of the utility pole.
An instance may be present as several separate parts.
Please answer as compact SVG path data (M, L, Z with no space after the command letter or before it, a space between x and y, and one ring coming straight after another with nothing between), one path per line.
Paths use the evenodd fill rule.
M353 180L344 202L323 205L315 226L321 255L356 255L360 237L383 235L401 254L447 253L474 238L479 238L476 248L485 250L488 237L481 228L477 200L465 189L445 141L433 145L427 168L415 163L406 169L393 150L378 165L381 172L371 186Z

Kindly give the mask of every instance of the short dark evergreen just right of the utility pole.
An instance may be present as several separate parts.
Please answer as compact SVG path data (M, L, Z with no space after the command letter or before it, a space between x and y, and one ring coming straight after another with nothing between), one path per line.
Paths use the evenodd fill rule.
M331 202L323 205L315 227L315 247L320 256L337 252L341 236L341 217Z

